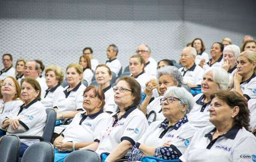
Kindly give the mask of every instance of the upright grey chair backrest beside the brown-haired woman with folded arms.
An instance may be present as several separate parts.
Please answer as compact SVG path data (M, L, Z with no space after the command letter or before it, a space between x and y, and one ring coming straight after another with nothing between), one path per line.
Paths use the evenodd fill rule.
M56 112L54 111L54 109L46 109L45 111L47 113L47 119L42 137L44 138L44 141L51 142L56 122Z

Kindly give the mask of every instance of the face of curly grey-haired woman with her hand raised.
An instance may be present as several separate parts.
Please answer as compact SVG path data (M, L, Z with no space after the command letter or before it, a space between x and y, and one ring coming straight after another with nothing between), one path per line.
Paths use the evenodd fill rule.
M160 93L163 95L168 87L171 86L178 86L175 82L172 76L163 74L159 77L159 90Z

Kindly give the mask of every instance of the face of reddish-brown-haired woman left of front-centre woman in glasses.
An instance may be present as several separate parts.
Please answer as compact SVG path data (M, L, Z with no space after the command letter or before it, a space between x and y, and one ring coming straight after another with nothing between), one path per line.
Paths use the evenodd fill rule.
M94 112L95 109L99 110L101 105L101 100L94 93L94 89L84 93L83 98L83 108L88 112Z

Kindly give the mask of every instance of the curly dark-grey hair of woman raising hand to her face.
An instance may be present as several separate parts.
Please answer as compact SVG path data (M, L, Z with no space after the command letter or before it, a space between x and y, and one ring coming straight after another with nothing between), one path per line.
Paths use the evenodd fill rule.
M164 66L157 70L157 80L159 80L161 75L170 75L173 78L173 81L178 85L182 86L183 76L178 68L175 66Z

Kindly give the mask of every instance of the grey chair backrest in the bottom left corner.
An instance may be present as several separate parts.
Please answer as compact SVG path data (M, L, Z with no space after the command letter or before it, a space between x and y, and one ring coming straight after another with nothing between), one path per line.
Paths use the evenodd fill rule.
M20 155L20 138L16 135L3 136L0 141L0 161L18 162Z

